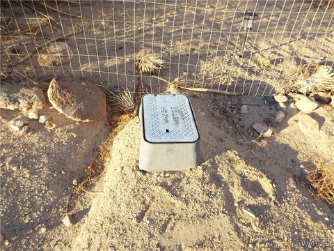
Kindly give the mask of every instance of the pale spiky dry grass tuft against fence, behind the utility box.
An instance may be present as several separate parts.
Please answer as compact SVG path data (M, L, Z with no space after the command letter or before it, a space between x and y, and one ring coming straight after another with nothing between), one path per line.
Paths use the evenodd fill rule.
M164 67L164 60L154 55L145 55L136 61L138 74L143 75L149 73L150 75L157 75L159 70Z

